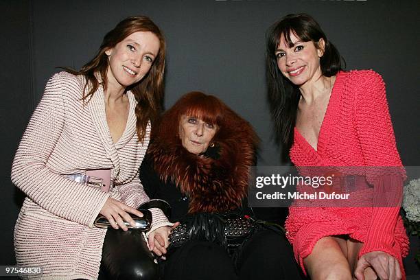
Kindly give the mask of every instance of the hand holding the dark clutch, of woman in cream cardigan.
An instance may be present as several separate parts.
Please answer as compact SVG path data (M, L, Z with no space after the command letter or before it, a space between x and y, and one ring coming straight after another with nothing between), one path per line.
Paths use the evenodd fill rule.
M139 210L125 205L123 202L115 200L114 198L108 198L108 200L106 200L100 213L104 215L106 219L108 219L110 225L114 229L119 229L120 227L123 231L128 230L127 226L124 224L124 221L128 222L131 226L136 225L135 221L132 220L128 213L143 217L143 213L141 213Z

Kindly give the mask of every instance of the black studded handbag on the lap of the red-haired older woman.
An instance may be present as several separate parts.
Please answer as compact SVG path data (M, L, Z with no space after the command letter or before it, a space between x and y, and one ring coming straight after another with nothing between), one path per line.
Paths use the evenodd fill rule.
M257 231L259 224L237 213L196 213L172 230L168 251L188 240L215 242L227 249L237 248Z

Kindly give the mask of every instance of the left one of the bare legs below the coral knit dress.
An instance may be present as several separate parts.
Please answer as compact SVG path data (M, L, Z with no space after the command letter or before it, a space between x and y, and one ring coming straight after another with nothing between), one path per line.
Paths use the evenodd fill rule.
M327 236L318 240L312 253L303 259L303 264L312 280L353 279L346 240L340 237Z

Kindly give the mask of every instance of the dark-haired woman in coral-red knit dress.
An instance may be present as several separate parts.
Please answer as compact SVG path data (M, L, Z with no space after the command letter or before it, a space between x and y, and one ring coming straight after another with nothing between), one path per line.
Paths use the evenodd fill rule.
M401 167L385 86L374 71L342 71L341 57L307 14L289 14L267 36L269 96L296 166ZM401 170L401 168L400 168ZM377 189L402 191L404 172ZM381 205L379 205L381 206ZM290 207L287 236L311 279L404 279L408 238L399 205Z

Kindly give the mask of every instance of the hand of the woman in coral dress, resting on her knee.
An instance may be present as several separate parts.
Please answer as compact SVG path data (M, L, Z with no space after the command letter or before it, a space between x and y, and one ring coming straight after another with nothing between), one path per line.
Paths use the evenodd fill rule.
M354 270L356 279L365 280L364 270L369 267L375 270L377 277L379 277L381 280L402 279L398 260L388 253L382 251L373 251L362 255Z

